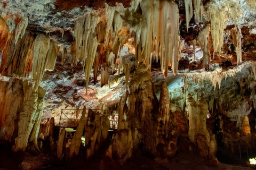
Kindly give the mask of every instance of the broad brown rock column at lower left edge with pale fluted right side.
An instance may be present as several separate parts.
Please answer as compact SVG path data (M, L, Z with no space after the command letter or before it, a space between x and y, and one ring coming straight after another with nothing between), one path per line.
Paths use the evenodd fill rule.
M33 89L28 80L10 78L2 81L0 138L14 142L14 151L25 151L28 142L37 146L39 122L43 113L45 90Z

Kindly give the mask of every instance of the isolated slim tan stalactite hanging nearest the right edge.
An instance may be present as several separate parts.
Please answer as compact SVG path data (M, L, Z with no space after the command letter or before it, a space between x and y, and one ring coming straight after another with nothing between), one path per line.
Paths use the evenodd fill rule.
M238 65L239 63L242 63L241 35L240 35L239 29L237 28L233 28L230 31L231 31L231 35L235 45L235 52L236 52L237 65Z

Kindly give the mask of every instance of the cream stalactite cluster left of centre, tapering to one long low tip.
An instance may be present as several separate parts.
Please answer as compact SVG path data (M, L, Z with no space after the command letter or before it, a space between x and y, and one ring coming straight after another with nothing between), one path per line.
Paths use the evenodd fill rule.
M83 62L83 69L85 67L86 92L98 47L97 37L94 35L94 30L98 23L99 16L97 12L86 13L84 18L78 19L75 23L76 56L74 58L72 55L72 57L75 64L78 61Z

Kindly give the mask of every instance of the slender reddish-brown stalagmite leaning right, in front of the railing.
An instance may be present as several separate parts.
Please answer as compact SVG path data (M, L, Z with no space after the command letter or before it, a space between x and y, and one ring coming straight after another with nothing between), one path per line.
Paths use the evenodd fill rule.
M85 117L86 114L86 107L84 106L82 116L79 120L79 124L77 126L76 132L74 134L73 139L71 140L70 150L68 154L68 160L71 160L74 156L77 156L79 154L79 149L82 143L82 135L84 131L84 125L85 125Z

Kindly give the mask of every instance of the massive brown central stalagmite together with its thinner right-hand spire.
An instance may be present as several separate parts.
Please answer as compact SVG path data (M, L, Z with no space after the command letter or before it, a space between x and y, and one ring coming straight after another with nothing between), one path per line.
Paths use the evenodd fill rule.
M147 68L140 64L129 89L127 123L133 135L133 149L159 158L174 156L179 135L175 116L169 108L166 83L162 83L158 101Z

